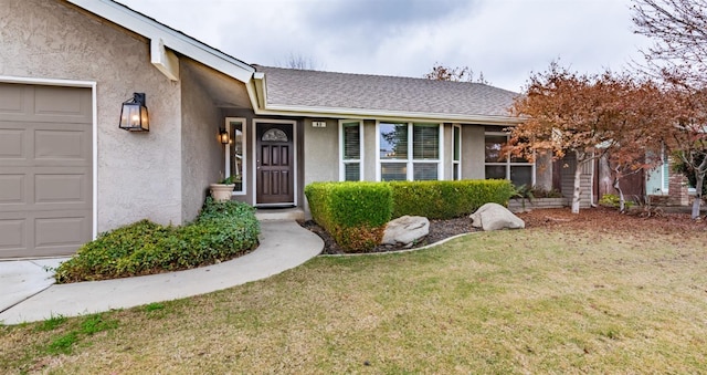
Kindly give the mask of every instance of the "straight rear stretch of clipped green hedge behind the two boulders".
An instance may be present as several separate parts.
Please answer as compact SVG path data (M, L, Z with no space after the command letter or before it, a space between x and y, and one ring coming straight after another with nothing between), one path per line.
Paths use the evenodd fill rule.
M460 181L392 181L392 217L424 216L452 219L474 212L488 202L508 205L513 185L505 179Z

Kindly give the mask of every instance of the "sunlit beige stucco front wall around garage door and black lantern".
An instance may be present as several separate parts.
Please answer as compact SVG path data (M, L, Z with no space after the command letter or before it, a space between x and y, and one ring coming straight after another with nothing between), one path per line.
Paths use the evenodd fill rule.
M141 218L179 223L180 83L149 61L149 41L63 2L2 0L0 75L97 83L98 231ZM118 128L120 104L147 95L149 133Z

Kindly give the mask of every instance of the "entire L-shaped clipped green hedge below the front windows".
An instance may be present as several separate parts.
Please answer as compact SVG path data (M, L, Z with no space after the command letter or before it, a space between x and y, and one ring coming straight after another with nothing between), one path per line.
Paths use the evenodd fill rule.
M507 205L507 180L314 183L305 187L313 219L348 252L380 243L386 223L404 215L451 219L487 202Z

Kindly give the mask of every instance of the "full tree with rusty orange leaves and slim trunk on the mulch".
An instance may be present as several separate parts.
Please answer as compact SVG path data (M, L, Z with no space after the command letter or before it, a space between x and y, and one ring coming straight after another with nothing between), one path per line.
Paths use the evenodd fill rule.
M666 123L661 90L650 81L604 72L569 72L553 62L547 72L531 75L511 113L525 121L511 129L506 150L534 159L551 153L577 160L572 212L578 213L582 166L608 157L614 166L614 187L621 178L650 169L658 160Z

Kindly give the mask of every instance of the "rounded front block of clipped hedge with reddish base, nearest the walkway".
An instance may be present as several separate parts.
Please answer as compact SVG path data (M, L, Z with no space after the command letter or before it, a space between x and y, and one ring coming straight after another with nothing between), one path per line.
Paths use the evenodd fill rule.
M367 251L382 240L392 211L388 184L313 183L305 195L313 219L346 251Z

